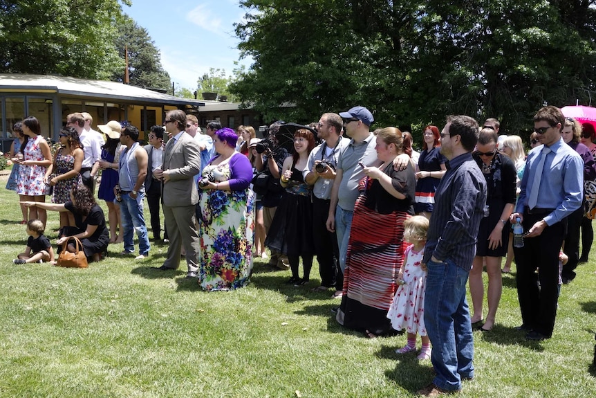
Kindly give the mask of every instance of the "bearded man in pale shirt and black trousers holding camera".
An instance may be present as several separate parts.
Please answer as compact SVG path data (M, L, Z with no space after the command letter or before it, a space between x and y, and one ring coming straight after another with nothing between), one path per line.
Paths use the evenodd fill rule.
M337 156L350 143L342 137L344 122L338 114L323 114L317 123L317 137L324 140L308 156L308 169L304 181L313 187L313 240L319 262L321 286L313 291L326 291L335 287L342 291L344 280L337 266L339 246L335 232L329 232L325 223L331 202L331 187L335 179Z

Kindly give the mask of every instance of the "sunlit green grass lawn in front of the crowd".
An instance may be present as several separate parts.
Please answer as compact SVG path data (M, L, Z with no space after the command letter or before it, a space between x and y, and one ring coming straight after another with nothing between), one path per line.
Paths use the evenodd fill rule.
M339 301L310 291L316 267L295 288L288 271L257 262L245 289L206 293L184 265L150 269L166 246L135 262L112 245L89 269L15 266L25 228L15 193L0 189L0 201L0 397L413 397L433 377L429 362L393 353L405 336L337 325ZM48 220L55 241L57 213ZM580 265L563 287L555 334L541 343L512 329L521 320L505 275L496 326L474 332L476 379L461 396L595 397L595 269Z

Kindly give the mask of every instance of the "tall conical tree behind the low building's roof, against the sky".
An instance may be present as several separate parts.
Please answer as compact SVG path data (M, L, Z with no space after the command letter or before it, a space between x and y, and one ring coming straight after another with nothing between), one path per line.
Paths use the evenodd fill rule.
M115 45L123 64L122 69L116 71L111 80L124 81L124 51L127 49L131 85L164 90L171 88L169 73L161 65L160 51L147 29L139 26L128 15L120 17Z

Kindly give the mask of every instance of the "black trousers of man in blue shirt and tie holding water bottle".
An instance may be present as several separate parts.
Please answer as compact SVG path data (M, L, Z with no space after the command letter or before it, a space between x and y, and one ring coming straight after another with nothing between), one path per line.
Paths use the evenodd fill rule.
M545 215L524 212L523 230L532 228ZM517 266L517 297L523 325L545 336L550 336L555 328L559 297L559 250L565 235L565 224L564 219L547 226L541 235L524 238L523 247L513 248Z

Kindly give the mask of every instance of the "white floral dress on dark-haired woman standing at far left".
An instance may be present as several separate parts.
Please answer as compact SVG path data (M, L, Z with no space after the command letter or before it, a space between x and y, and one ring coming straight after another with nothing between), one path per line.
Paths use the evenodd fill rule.
M24 161L43 161L44 154L41 153L39 142L44 141L44 137L30 137L25 145ZM39 165L21 165L19 168L19 179L17 180L17 193L26 196L48 195L50 186L44 183L48 168Z

